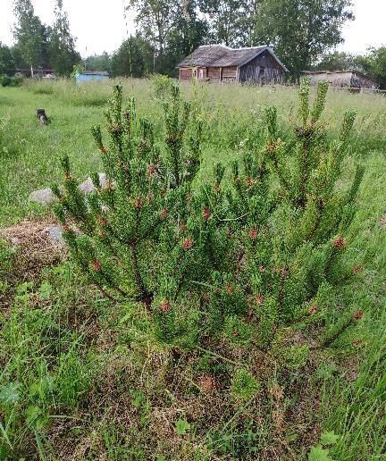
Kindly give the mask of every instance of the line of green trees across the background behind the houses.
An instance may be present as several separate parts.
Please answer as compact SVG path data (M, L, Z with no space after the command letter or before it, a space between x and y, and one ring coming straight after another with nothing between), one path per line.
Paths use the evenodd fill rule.
M88 56L76 51L63 0L55 0L55 22L43 24L30 0L14 0L15 45L0 44L0 74L15 68L52 68L70 75L74 64L113 76L176 75L176 64L197 46L269 45L297 80L304 70L354 68L386 87L386 47L364 56L330 50L352 21L351 0L127 0L136 16L135 35L113 53Z

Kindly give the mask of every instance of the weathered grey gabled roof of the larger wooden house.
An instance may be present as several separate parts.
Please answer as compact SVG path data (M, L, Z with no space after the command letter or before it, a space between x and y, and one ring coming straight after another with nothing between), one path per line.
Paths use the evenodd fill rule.
M198 46L193 53L189 54L177 67L230 67L240 66L254 59L258 54L268 51L274 59L281 65L284 71L287 68L279 58L273 53L269 46L251 46L250 48L230 48L223 45L203 45Z

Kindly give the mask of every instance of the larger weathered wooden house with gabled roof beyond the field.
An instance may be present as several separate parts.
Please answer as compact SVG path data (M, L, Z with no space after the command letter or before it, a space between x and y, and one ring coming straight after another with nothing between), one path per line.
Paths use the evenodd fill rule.
M204 45L178 64L180 80L282 83L285 65L269 46L230 48Z

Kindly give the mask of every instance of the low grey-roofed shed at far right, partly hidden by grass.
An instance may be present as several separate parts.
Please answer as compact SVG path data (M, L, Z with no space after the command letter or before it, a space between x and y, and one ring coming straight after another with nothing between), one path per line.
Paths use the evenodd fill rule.
M303 71L302 75L311 79L311 85L323 80L328 81L331 87L379 88L375 80L358 71Z

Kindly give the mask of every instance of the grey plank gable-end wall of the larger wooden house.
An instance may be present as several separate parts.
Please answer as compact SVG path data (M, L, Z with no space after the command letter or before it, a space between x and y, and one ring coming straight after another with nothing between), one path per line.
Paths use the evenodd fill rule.
M239 81L256 83L282 83L284 71L272 54L264 52L239 68Z

